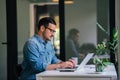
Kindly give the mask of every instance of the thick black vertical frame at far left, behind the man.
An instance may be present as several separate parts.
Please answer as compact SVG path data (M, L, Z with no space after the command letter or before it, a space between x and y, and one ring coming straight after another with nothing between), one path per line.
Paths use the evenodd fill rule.
M17 80L17 3L6 0L7 17L7 80Z

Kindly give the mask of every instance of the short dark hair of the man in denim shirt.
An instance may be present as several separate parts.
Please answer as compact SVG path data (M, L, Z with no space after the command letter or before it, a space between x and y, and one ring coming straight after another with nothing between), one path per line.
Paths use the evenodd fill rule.
M40 29L40 27L43 25L44 27L48 27L49 23L56 25L56 22L54 21L54 19L52 19L51 17L44 17L41 18L38 22L38 30Z

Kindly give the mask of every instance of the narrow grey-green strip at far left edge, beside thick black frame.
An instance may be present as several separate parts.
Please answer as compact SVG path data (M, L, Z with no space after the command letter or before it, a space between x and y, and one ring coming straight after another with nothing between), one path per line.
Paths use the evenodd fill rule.
M6 0L0 0L0 80L7 80Z

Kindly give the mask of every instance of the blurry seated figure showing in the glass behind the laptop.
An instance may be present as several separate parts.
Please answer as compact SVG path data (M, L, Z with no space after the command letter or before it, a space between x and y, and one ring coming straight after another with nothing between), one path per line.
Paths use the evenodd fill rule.
M68 32L68 36L66 39L66 57L83 57L83 54L79 53L79 36L80 32L78 29L72 28Z

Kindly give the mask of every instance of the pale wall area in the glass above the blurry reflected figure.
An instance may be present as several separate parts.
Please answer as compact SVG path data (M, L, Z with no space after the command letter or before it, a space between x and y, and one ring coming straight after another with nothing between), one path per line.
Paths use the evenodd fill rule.
M65 5L65 31L70 28L80 31L80 44L89 42L96 45L96 0L74 0Z

